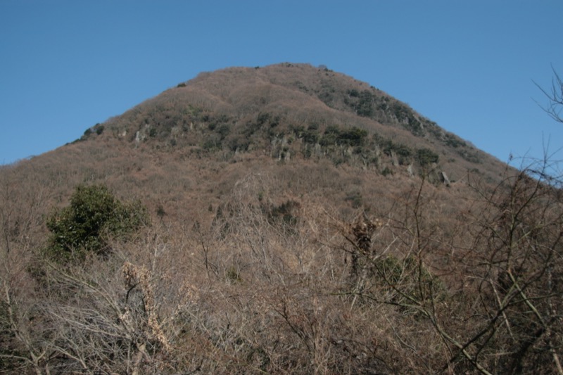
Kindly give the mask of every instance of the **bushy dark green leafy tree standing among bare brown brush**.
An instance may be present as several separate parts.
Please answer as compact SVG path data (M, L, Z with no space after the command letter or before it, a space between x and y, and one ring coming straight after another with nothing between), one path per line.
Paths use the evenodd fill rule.
M122 203L104 185L80 185L68 207L47 220L52 232L46 254L59 262L83 260L108 251L108 238L122 237L148 224L140 203Z

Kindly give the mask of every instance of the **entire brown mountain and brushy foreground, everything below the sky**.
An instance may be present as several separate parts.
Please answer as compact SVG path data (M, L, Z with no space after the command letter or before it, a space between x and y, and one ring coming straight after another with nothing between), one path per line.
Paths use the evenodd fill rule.
M563 374L546 163L326 68L202 73L2 167L0 372Z

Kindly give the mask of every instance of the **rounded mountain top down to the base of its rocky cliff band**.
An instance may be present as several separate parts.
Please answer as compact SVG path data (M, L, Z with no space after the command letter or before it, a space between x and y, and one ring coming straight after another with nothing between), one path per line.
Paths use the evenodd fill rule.
M365 82L305 64L228 68L152 98L88 129L137 147L220 156L260 152L278 160L327 158L364 169L467 170L498 177L497 160ZM240 156L238 156L240 158ZM403 166L403 167L401 167Z

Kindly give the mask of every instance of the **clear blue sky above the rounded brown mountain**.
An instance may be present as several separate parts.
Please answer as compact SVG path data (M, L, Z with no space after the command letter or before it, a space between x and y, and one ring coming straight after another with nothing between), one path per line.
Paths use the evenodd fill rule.
M0 164L229 66L327 65L506 161L563 147L562 0L0 0Z

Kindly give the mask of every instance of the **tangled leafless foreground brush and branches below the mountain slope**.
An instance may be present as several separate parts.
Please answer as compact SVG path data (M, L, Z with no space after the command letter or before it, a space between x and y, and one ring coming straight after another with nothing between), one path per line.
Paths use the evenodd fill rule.
M247 174L211 222L163 220L86 263L42 258L5 220L4 369L557 371L559 190L524 171L446 216L421 181L343 217L280 182Z

